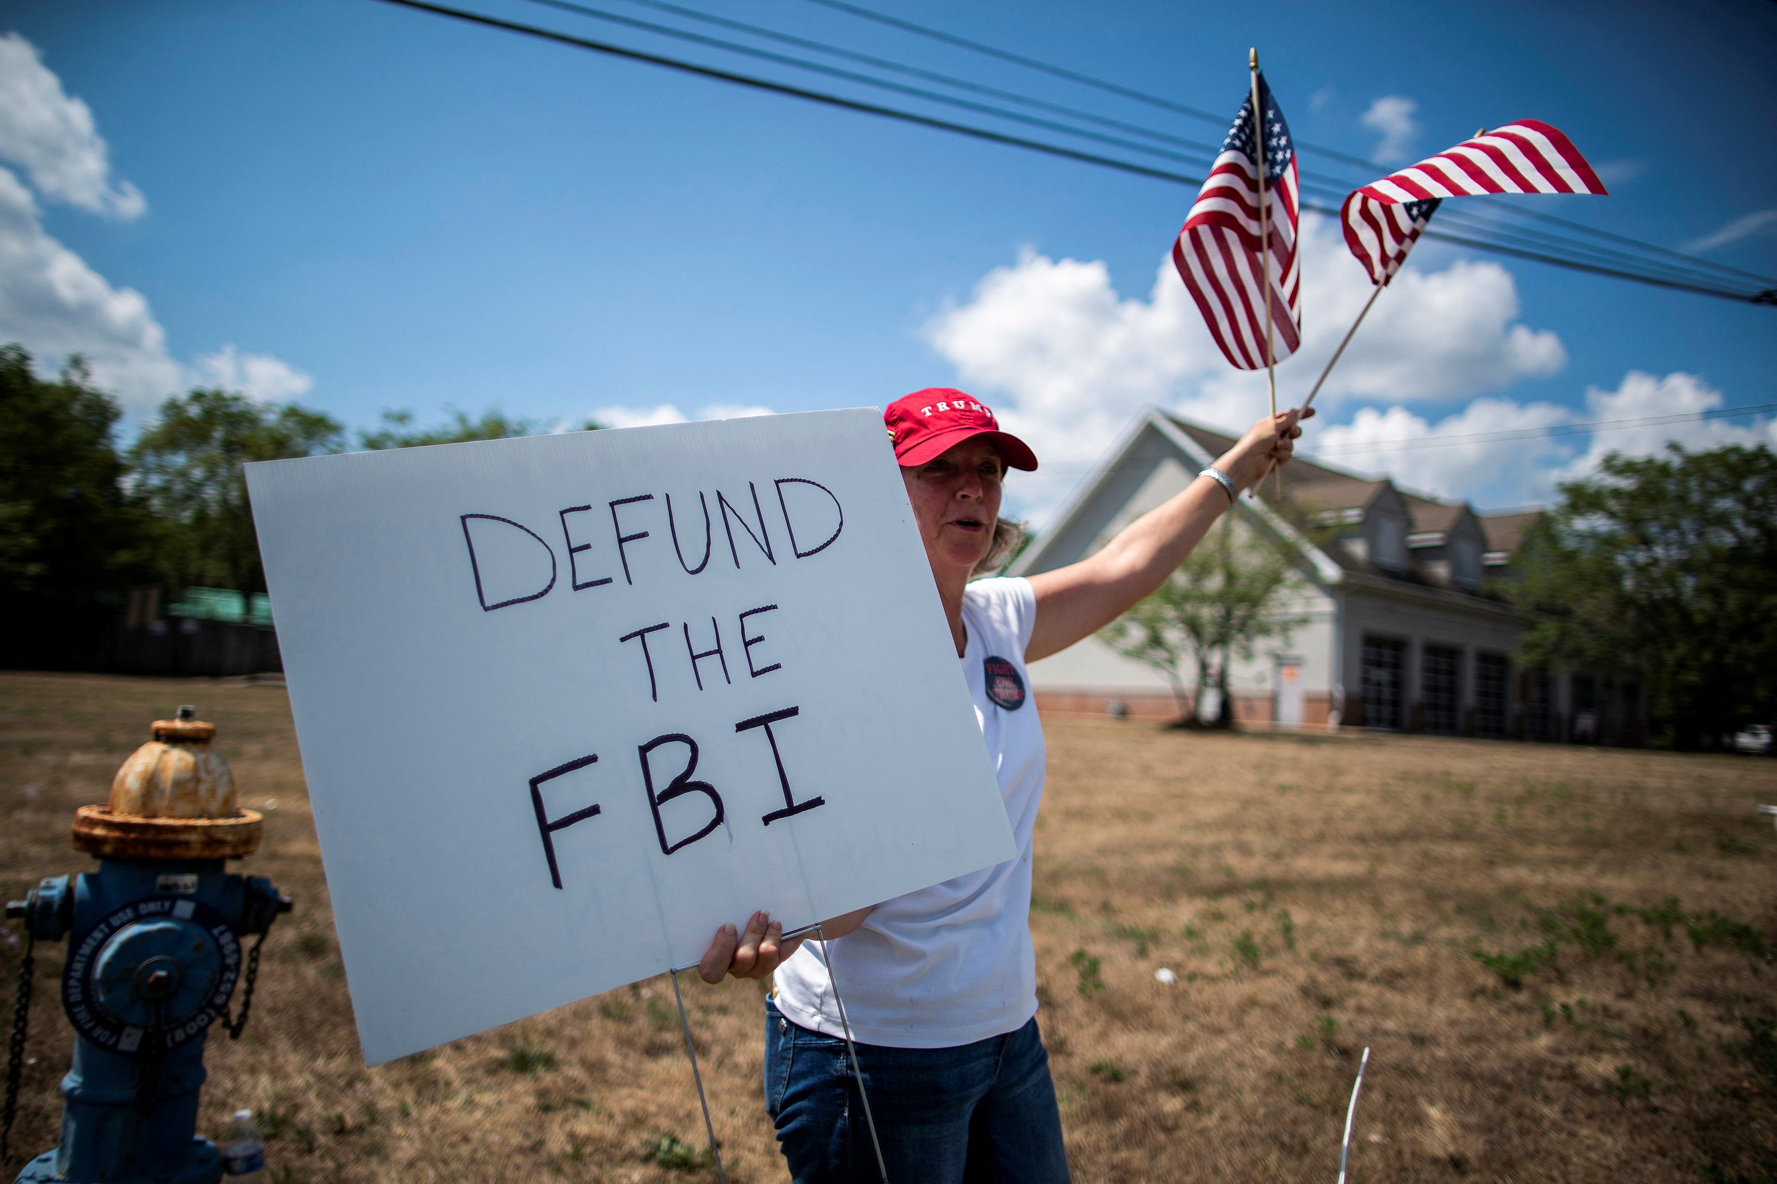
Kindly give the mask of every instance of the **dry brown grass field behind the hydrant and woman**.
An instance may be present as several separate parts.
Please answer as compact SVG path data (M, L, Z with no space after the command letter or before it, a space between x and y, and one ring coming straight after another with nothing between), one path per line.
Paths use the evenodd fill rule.
M297 900L243 1038L211 1037L203 1131L259 1111L275 1182L713 1179L665 978L363 1067L279 687L0 675L9 896L89 866L75 806L178 703L267 808L240 870ZM1356 1182L1777 1179L1777 836L1754 811L1777 762L1047 731L1031 925L1077 1180L1331 1180L1365 1046ZM39 946L32 1154L71 1047L62 953ZM16 964L0 943L7 991ZM730 1179L785 1179L762 989L684 989Z

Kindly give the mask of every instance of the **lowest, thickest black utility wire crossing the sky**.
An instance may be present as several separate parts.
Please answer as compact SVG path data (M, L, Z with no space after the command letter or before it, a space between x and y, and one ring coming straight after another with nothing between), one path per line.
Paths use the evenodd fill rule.
M972 124L952 122L952 121L936 119L936 117L931 117L931 115L920 115L920 114L915 114L915 112L894 108L894 107L881 107L878 103L865 103L865 101L860 101L860 99L851 99L851 98L842 98L842 96L837 96L837 94L828 94L828 92L823 92L823 91L810 91L807 87L796 87L796 85L784 83L784 82L773 82L773 80L757 78L757 76L752 76L752 75L741 75L741 73L729 71L729 69L718 69L718 67L713 67L713 66L700 66L700 64L695 64L695 62L686 62L682 59L673 59L673 57L666 57L666 55L661 55L661 53L647 53L647 51L641 51L641 50L633 50L633 48L611 44L611 43L606 43L606 41L594 41L594 39L588 39L588 37L576 37L576 36L556 32L556 30L551 30L551 28L540 28L540 27L524 25L524 23L519 23L519 21L506 21L506 20L501 20L501 18L496 18L496 16L485 16L482 12L469 12L469 11L464 11L464 9L453 9L453 7L446 7L442 4L430 4L426 0L382 0L382 2L384 4L393 4L393 5L398 5L398 7L416 9L416 11L421 11L421 12L432 12L435 16L446 16L446 18L451 18L451 20L460 20L460 21L467 21L467 23L474 23L474 25L483 25L483 27L489 27L489 28L501 28L501 30L506 30L506 32L515 32L515 34L522 34L522 36L530 36L530 37L538 37L538 39L544 39L544 41L554 41L554 43L560 43L560 44L570 44L570 46L576 46L576 48L592 50L595 53L608 53L611 57L622 57L622 59L629 59L629 60L636 60L636 62L647 62L647 64L652 64L652 66L663 66L666 69L677 69L677 71L689 73L689 75L698 75L698 76L704 76L704 78L716 78L720 82L730 82L730 83L736 83L736 85L752 87L752 89L759 89L759 91L768 91L768 92L773 92L773 94L785 94L785 96L807 99L807 101L812 101L812 103L823 103L826 107L837 107L837 108L862 112L862 114L869 114L869 115L880 115L880 117L885 117L885 119L897 119L901 122L912 122L912 124L919 124L919 126L926 126L926 128L936 128L940 131L951 131L951 133L956 133L956 135L967 135L967 137L972 137L972 138L977 138L977 140L988 140L988 142L993 142L993 144L1006 144L1006 146L1011 146L1011 147L1024 147L1024 149L1029 149L1029 151L1045 153L1048 156L1059 156L1059 158L1066 158L1066 160L1077 160L1077 162L1082 162L1082 163L1100 165L1104 169L1116 169L1120 172L1128 172L1128 174L1136 174L1136 176L1146 176L1146 178L1153 178L1153 179L1159 179L1159 181L1171 181L1175 185L1198 186L1201 183L1201 178L1191 178L1191 176L1183 176L1183 174L1178 174L1178 172L1169 172L1166 169L1155 169L1155 167L1136 163L1136 162L1128 162L1128 160L1118 160L1114 156L1100 156L1096 153L1086 153L1086 151L1066 147L1066 146L1061 146L1061 144L1047 144L1043 140L1032 140L1032 138L1025 138L1025 137L1008 135L1008 133L1002 133L1002 131L993 131L993 130L988 130L988 128L979 128L979 126L972 126ZM819 0L819 2L825 2L825 0ZM890 85L892 87L896 83L878 83L878 85ZM1095 133L1086 133L1086 131L1079 131L1079 130L1066 130L1066 131L1070 135L1100 138ZM1153 151L1153 149L1144 149L1144 151ZM1336 208L1320 206L1320 204L1313 204L1313 202L1303 202L1303 209L1313 209L1317 213L1326 213L1326 215L1333 215L1333 217L1338 215ZM1647 275L1647 273L1637 273L1637 272L1624 272L1624 270L1614 268L1614 266L1601 266L1601 264L1596 264L1596 263L1585 263L1585 261L1578 261L1578 259L1564 259L1564 257L1544 254L1544 252L1539 252L1539 250L1516 249L1516 247L1507 247L1507 245L1502 245L1502 243L1491 243L1491 241L1484 241L1484 240L1462 238L1462 236L1457 236L1457 234L1446 234L1446 233L1430 231L1430 229L1427 229L1423 233L1423 238L1436 238L1436 240L1457 243L1457 245L1462 245L1462 247L1473 247L1477 250L1493 250L1493 252L1498 252L1498 254L1507 254L1507 256L1514 256L1514 257L1521 257L1521 259L1530 259L1530 261L1537 261L1537 263L1550 263L1553 266L1564 266L1564 268L1576 270L1576 272L1589 272L1589 273L1596 273L1596 275L1610 275L1610 277L1615 277L1615 279L1628 279L1628 280L1635 280L1635 282L1642 282L1642 284L1653 284L1653 286L1658 286L1658 288L1672 288L1672 289L1679 289L1679 291L1693 291L1693 293L1699 293L1699 295L1718 296L1718 298L1724 298L1724 300L1736 300L1736 302L1747 302L1747 304L1770 304L1770 305L1777 305L1777 289L1766 289L1766 291L1759 291L1759 293L1731 291L1731 289L1725 289L1725 288L1711 288L1706 282L1688 282L1688 280L1679 280L1679 279L1667 279L1667 277L1658 277L1658 275Z

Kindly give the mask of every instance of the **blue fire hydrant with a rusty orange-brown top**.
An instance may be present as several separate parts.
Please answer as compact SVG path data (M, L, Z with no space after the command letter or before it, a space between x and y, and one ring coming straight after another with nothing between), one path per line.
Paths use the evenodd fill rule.
M259 946L290 912L265 877L229 875L226 859L259 847L263 818L240 809L235 777L210 747L215 724L181 706L123 763L105 806L75 813L75 847L98 872L43 880L7 904L27 941L71 934L62 1010L75 1060L62 1077L62 1141L18 1180L217 1184L222 1157L195 1134L204 1040L222 1021L240 1037L252 1005ZM242 957L242 937L258 934ZM30 944L20 971L7 1125L30 1003ZM242 962L245 960L245 967ZM229 1014L245 976L240 1012Z

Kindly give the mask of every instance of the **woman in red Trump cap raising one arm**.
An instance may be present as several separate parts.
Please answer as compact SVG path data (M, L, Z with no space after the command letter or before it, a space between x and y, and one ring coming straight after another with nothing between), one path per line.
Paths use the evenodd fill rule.
M1159 588L1239 490L1290 458L1295 421L1297 412L1258 421L1182 493L1080 563L970 582L1016 543L1018 527L999 520L1000 481L1008 465L1036 469L1036 456L961 391L919 391L883 412L1020 856L825 921L825 953L782 941L782 925L764 912L745 932L716 932L698 967L705 982L775 975L766 1109L798 1184L881 1175L833 980L892 1184L1068 1179L1036 1030L1031 831L1043 730L1025 662L1072 646ZM823 957L832 957L832 980Z

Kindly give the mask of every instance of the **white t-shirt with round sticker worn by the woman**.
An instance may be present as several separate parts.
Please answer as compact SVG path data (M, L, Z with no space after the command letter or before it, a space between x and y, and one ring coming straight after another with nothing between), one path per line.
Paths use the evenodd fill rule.
M864 1044L940 1049L1016 1031L1036 1014L1031 946L1031 831L1043 799L1043 724L1024 648L1036 623L1025 579L963 591L963 676L988 746L1018 857L876 905L832 943L851 1035ZM777 969L777 1005L794 1022L842 1035L817 941Z

